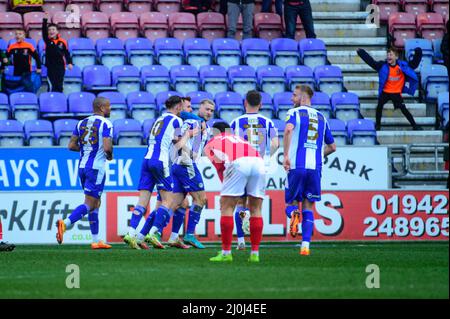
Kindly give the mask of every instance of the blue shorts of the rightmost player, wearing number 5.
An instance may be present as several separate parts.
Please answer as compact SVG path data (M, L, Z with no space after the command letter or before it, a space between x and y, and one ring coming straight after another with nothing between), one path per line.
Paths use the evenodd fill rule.
M286 203L301 202L308 199L310 202L320 201L321 170L291 169L286 180L284 192Z

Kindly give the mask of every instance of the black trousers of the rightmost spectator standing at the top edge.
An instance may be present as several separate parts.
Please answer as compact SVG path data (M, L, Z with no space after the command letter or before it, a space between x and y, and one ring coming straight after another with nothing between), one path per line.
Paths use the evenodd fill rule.
M297 16L302 20L307 38L316 38L314 33L314 21L312 18L312 9L309 0L300 0L300 5L291 6L288 3L284 5L284 20L286 22L286 38L295 39L295 29L297 25Z

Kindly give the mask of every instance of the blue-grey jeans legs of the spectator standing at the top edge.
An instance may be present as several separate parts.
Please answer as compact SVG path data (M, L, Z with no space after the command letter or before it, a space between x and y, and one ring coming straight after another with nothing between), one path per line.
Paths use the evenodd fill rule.
M239 15L242 13L243 39L253 36L253 11L255 0L228 0L228 37L234 39L236 36Z

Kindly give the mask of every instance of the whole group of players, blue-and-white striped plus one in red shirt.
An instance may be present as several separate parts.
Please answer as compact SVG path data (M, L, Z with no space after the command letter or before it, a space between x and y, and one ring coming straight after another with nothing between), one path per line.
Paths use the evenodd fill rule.
M313 91L304 85L296 87L292 95L294 107L287 113L283 139L284 161L287 171L285 190L286 215L290 218L290 233L298 234L302 212L301 255L309 255L309 243L314 228L313 204L320 201L323 157L336 150L328 122L311 108ZM171 96L165 102L165 113L154 122L148 139L148 150L141 167L139 200L131 215L129 231L124 237L133 249L149 249L147 244L165 249L161 242L163 229L172 218L171 247L203 249L195 228L206 205L202 175L197 167L200 156L209 158L222 181L220 199L220 229L222 251L210 258L213 262L232 261L234 223L237 227L237 249L245 249L244 235L250 233L250 262L259 262L262 239L262 203L265 195L266 174L270 157L278 147L277 129L267 117L259 114L261 94L249 91L245 98L246 113L231 123L207 122L213 117L215 104L205 99L194 114L190 99ZM84 215L92 233L93 249L109 249L110 245L98 238L98 208L105 183L105 162L113 158L112 124L108 99L94 100L94 114L76 126L69 149L80 152L79 178L85 194L84 204L71 215L58 220L57 241L63 242L66 228ZM156 186L158 199L155 210L146 215L151 194ZM186 196L192 197L189 207ZM302 203L302 210L299 204ZM186 234L179 231L189 211Z

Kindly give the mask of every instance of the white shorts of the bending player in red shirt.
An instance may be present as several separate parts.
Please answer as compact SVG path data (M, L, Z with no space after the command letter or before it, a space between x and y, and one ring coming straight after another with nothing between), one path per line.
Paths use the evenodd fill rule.
M260 157L242 157L228 164L223 173L222 196L264 198L266 174Z

